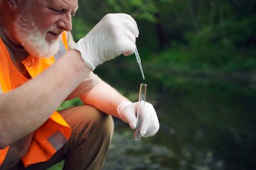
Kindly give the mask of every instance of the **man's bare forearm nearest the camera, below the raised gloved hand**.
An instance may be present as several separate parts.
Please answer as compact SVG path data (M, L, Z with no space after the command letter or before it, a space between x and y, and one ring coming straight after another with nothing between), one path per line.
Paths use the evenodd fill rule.
M41 126L88 73L79 52L70 50L35 79L0 95L0 148Z

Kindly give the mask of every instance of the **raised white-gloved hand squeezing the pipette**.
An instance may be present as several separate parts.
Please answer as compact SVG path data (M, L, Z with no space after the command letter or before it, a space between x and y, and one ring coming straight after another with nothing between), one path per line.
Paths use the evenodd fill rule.
M130 15L107 14L72 48L81 52L86 65L94 70L120 54L133 54L138 36L137 24Z

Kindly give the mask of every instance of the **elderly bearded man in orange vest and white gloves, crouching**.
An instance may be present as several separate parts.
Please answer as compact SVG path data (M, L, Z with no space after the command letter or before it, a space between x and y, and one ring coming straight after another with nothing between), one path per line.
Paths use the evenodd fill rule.
M71 36L78 0L0 0L0 169L100 169L113 119L134 129L137 103L92 71L135 51L136 22L108 14L79 42ZM80 97L84 105L55 110ZM141 136L159 129L146 103Z

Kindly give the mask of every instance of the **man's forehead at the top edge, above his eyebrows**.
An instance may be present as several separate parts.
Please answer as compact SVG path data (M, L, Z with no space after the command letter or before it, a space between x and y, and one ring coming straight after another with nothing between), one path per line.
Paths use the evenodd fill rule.
M49 5L57 5L58 7L63 7L64 9L78 9L78 0L45 0Z

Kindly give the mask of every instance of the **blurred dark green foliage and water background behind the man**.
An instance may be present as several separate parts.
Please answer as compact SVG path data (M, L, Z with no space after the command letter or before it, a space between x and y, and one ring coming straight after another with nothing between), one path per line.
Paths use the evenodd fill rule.
M104 169L256 169L255 9L255 0L79 1L75 40L106 13L135 18L146 80L134 55L105 62L95 73L131 101L147 83L160 121L156 136L135 142L115 120ZM119 160L115 152L125 141Z

